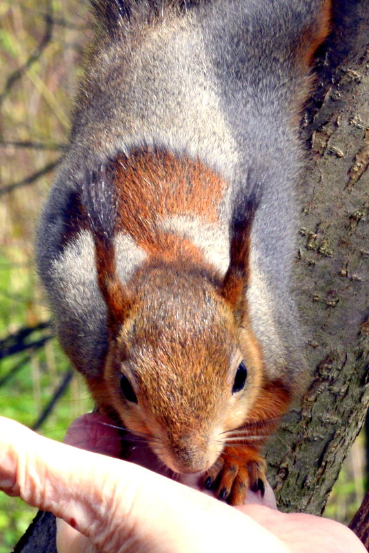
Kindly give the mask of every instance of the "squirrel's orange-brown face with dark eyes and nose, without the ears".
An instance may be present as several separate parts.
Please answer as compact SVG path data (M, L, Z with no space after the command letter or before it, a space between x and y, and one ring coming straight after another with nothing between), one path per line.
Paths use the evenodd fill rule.
M219 284L219 283L218 283ZM215 282L154 264L110 340L104 380L125 427L146 436L174 472L202 472L224 432L246 421L261 386L261 354Z

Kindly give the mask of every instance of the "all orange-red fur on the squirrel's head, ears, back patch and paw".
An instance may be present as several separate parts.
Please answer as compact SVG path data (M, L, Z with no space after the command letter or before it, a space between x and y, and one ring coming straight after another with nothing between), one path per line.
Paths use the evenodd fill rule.
M240 204L234 215L230 266L221 279L197 246L163 226L175 216L217 224L226 188L219 175L199 160L150 148L119 155L110 167L114 224L107 223L106 231L92 226L99 288L108 308L108 355L103 376L88 379L88 386L102 411L152 439L153 451L173 470L197 472L221 459L221 482L230 484L231 501L239 503L246 484L255 487L264 478L263 438L249 444L246 436L242 447L226 445L223 452L219 436L210 440L212 445L209 438L222 425L237 429L254 421L261 422L254 434L270 434L290 399L281 383L263 383L261 348L248 316L245 290L255 206ZM74 198L74 211L70 237L88 225L79 198ZM109 235L119 231L148 254L128 284L119 280ZM179 347L183 339L186 347ZM248 366L248 383L235 408L230 398L237 365L230 360L236 351ZM137 405L123 399L121 373L134 383ZM209 382L212 394L204 401L199 386Z

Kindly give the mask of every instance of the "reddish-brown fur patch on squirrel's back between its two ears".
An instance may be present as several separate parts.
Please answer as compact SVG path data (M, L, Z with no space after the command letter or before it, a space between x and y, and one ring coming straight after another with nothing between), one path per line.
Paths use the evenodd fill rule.
M158 148L119 155L115 170L117 228L163 261L188 256L200 260L200 251L190 241L168 233L161 225L175 215L217 223L226 182L199 159Z

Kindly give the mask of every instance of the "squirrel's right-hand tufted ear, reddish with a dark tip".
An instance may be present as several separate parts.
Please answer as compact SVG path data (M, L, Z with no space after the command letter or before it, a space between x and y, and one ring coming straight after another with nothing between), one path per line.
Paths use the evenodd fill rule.
M223 279L221 294L235 311L244 298L243 290L250 280L250 245L252 221L261 193L255 186L251 193L235 198L230 222L230 264Z

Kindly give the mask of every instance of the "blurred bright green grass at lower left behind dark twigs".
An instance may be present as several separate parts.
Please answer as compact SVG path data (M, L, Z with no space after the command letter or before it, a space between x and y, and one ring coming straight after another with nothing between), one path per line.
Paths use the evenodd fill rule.
M21 259L17 249L0 252L0 338L32 324L34 307L34 271ZM32 333L32 340L41 332ZM52 339L37 353L17 353L2 360L0 379L14 367L17 373L0 387L0 414L31 426L70 365L57 340ZM62 440L70 421L90 410L92 402L77 378L55 407L52 415L40 429L45 436ZM19 498L10 498L0 492L0 553L9 553L32 521L37 510Z

